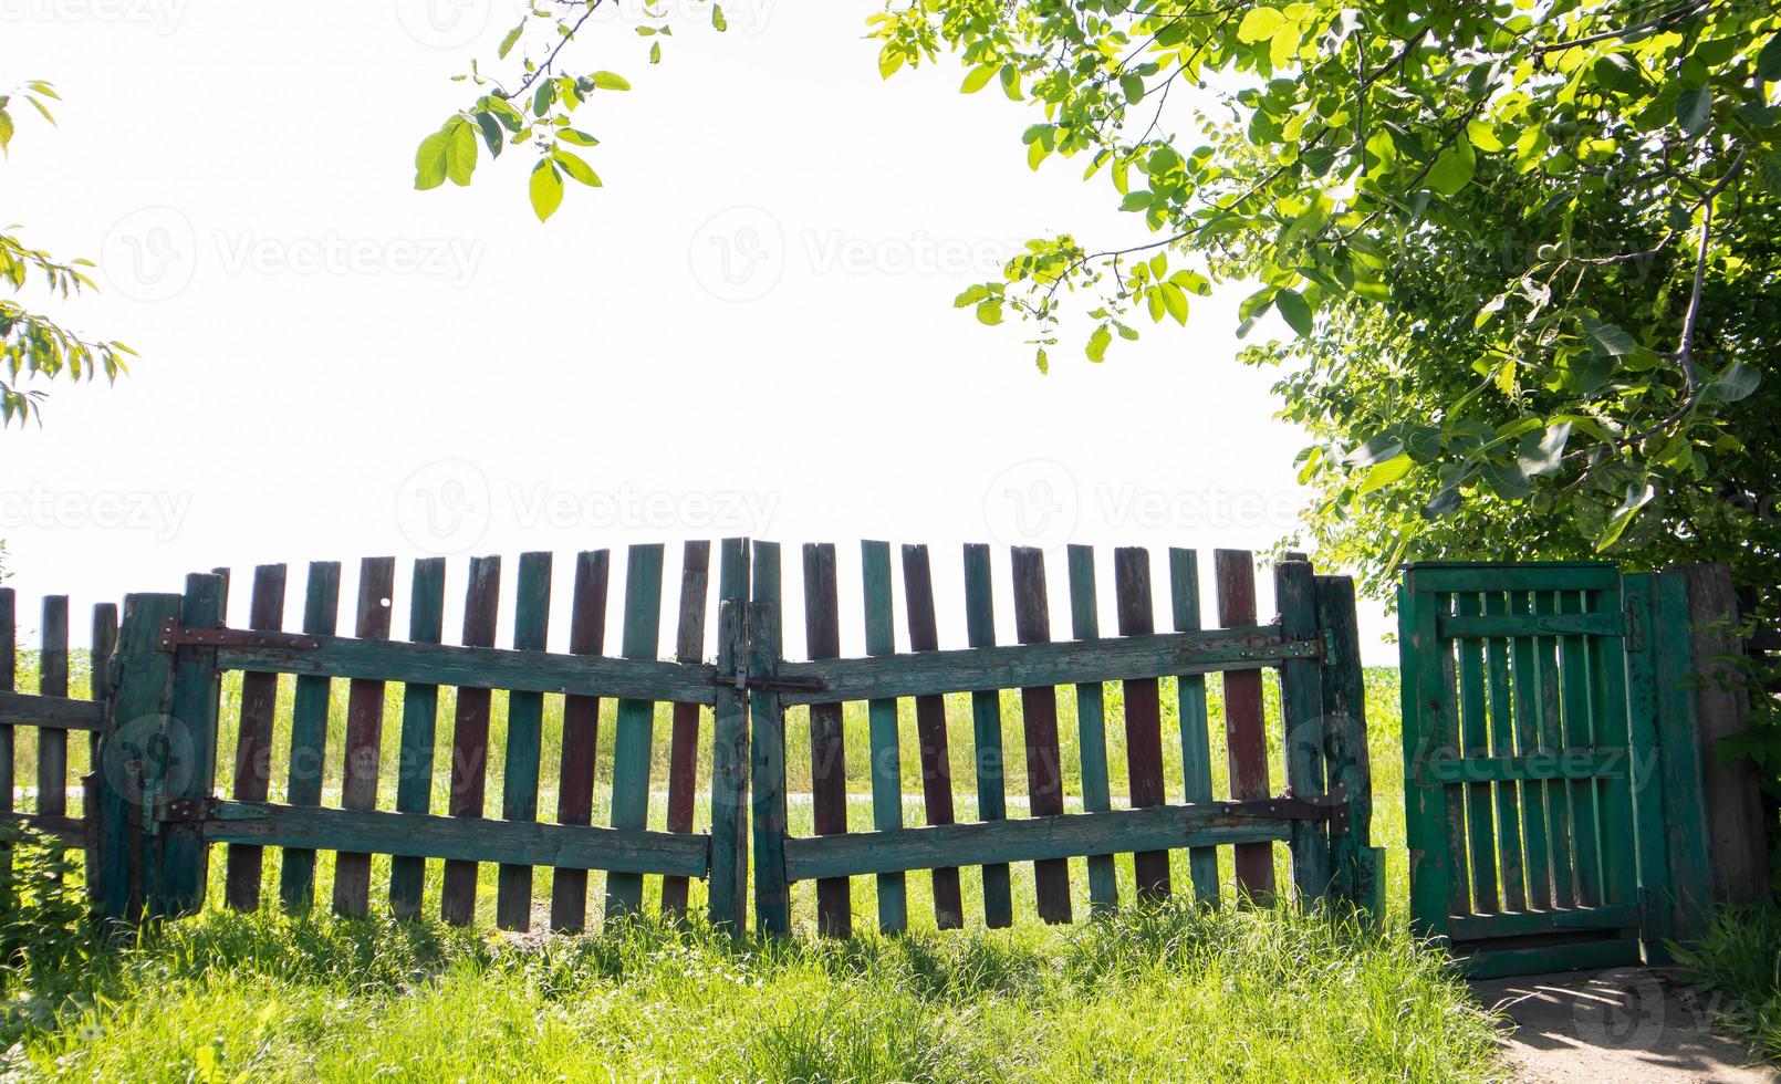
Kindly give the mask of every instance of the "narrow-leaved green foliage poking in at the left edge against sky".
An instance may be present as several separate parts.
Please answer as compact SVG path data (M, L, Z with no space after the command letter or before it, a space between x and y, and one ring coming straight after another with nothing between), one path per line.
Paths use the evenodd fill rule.
M0 153L5 155L11 155L16 132L11 109L18 101L30 105L53 125L50 103L59 101L59 96L55 87L41 80L27 82L18 93L0 94ZM0 281L12 287L14 295L32 279L62 299L80 290L98 290L87 278L85 267L93 263L87 260L62 263L43 249L25 246L12 233L0 233ZM135 351L121 342L89 342L50 317L34 313L14 299L0 297L0 427L14 418L23 424L32 413L41 413L43 392L23 388L21 377L55 377L66 372L78 381L103 372L105 379L118 379L118 374L125 372L126 356L135 356Z

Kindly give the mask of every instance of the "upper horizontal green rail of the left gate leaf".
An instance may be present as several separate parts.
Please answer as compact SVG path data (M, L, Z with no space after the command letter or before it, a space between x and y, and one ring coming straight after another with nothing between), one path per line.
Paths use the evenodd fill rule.
M506 648L458 648L440 644L392 644L351 637L317 635L313 648L265 646L219 648L223 669L374 678L435 685L470 685L515 692L559 692L565 696L616 696L632 700L700 701L711 696L709 666L655 659L602 659L511 651Z

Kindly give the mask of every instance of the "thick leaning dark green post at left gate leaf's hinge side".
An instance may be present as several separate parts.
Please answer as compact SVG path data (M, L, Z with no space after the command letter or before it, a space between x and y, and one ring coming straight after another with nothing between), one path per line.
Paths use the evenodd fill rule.
M150 755L159 744L173 682L173 655L160 628L180 614L178 595L130 595L123 603L118 650L105 667L114 692L100 730L91 803L93 897L102 920L128 922L142 911L150 878L142 847L142 803L151 792Z

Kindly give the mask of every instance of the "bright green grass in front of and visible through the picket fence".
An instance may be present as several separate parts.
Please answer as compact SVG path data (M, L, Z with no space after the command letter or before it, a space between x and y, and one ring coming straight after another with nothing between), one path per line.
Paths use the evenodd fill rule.
M25 687L32 675L25 675ZM77 664L78 669L78 664ZM82 676L77 673L77 689ZM1175 733L1165 682L1165 735ZM1211 691L1213 762L1224 764L1218 682ZM1108 691L1108 733L1122 733L1118 685ZM1275 689L1270 682L1270 717ZM328 767L329 801L338 781L344 684ZM390 689L383 789L394 796L401 689ZM848 774L855 828L869 826L866 717L846 714ZM1024 805L1021 707L1004 698L1010 805ZM1015 867L1012 931L981 927L981 879L964 870L971 929L933 929L926 874L908 876L912 933L821 942L814 890L796 886L800 936L784 943L730 940L693 924L638 922L582 938L511 936L488 931L495 870L483 867L476 931L433 920L338 922L240 917L212 906L194 920L150 931L123 951L100 951L75 967L25 968L14 975L4 1016L7 1070L28 1077L178 1080L246 1079L1489 1079L1492 1025L1439 958L1411 943L1403 922L1402 749L1396 673L1368 673L1370 744L1375 773L1373 838L1389 847L1391 918L1378 929L1327 915L1190 906L1127 910L1115 917L1045 927L1033 920L1031 865ZM908 705L905 703L905 710ZM224 687L224 730L239 712L239 685ZM602 712L595 822L611 792L611 705ZM442 705L435 764L443 808L451 700ZM545 780L540 808L554 810L561 701L547 701ZM956 801L974 810L967 698L949 698L947 719ZM1074 691L1060 691L1065 789L1079 794ZM490 792L499 792L506 737L497 696ZM657 719L652 824L664 817L666 714ZM709 733L709 732L707 732ZM810 829L809 730L787 719L791 829ZM903 726L905 819L921 822L914 721ZM21 732L21 739L25 739ZM1279 787L1279 735L1270 733ZM1115 805L1126 764L1111 740ZM84 771L73 742L71 776ZM233 735L226 733L219 794L228 794ZM1181 794L1181 753L1165 758L1168 792ZM289 755L289 689L274 740L272 796L283 790ZM709 764L702 764L703 805ZM36 778L34 749L20 740L18 778ZM1224 778L1215 792L1224 794ZM23 803L30 805L27 794ZM499 805L499 803L497 803ZM388 805L385 805L388 808ZM703 819L703 810L702 810ZM1229 849L1222 856L1229 881ZM1286 851L1277 847L1284 883ZM276 895L280 856L267 856L267 895ZM319 899L328 899L329 856L317 863ZM440 863L429 863L427 910L436 908ZM212 862L212 901L221 895L221 853ZM1086 918L1086 878L1072 863ZM372 899L385 892L388 863L374 867ZM1131 899L1131 860L1120 858L1122 897ZM1184 854L1177 883L1186 885ZM591 915L600 878L591 878ZM534 913L550 890L534 879ZM1227 885L1229 888L1229 885ZM650 895L659 890L648 879ZM647 901L647 902L652 902ZM695 910L702 886L693 888ZM857 929L873 926L873 878L853 879Z

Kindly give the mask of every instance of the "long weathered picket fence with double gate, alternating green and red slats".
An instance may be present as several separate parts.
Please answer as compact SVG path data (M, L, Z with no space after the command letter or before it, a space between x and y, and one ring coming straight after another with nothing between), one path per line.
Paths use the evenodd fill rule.
M1012 867L1026 863L1035 913L1058 922L1074 915L1072 860L1085 860L1094 910L1117 906L1120 876L1131 878L1138 897L1191 885L1199 899L1215 901L1220 847L1231 847L1227 888L1266 895L1275 890L1273 844L1286 844L1300 897L1375 899L1364 696L1346 578L1314 577L1302 561L1279 564L1279 616L1259 623L1252 555L1220 550L1218 623L1202 628L1197 555L1170 550L1172 628L1156 632L1149 554L1118 550L1117 635L1106 635L1094 554L1074 546L1070 634L1054 641L1045 555L1015 548L1008 570L1017 643L997 644L992 555L988 546L965 546L967 646L940 650L928 550L903 546L908 650L899 651L890 546L864 543L866 655L841 659L835 548L805 546L809 659L787 660L778 546L728 539L716 557L712 577L709 543L682 552L671 660L657 659L664 550L654 545L625 557L616 653L604 643L611 573L604 550L573 561L566 651L547 650L552 598L561 596L552 591L550 554L520 557L511 646L500 648L497 557L468 562L456 644L445 643L442 559L411 568L406 641L390 639L394 559L360 564L353 635L338 628L337 562L310 564L297 630L281 627L283 566L255 570L246 628L224 621L228 575L192 575L183 595L128 596L121 630L116 609L100 607L98 703L66 700L66 600L59 623L52 600L37 694L11 692L14 650L0 641L7 815L82 842L96 908L116 918L192 913L210 890L230 908L258 908L272 865L278 902L310 908L319 872L328 872L319 870L322 853L335 854L329 895L342 915L370 913L376 885L394 915L417 915L431 897L447 922L468 924L492 910L504 929L584 927L591 870L604 872L607 917L647 902L686 910L696 902L689 888L703 883L709 917L743 924L752 886L755 924L769 933L791 929L793 885L812 881L816 926L832 934L851 929L851 878L869 878L878 926L903 929L907 872L931 870L935 922L956 927L965 922L960 867L980 870L971 885L981 892L983 922L1008 926ZM7 637L11 605L11 593L0 593ZM711 609L714 651L707 651ZM1272 742L1265 669L1279 673ZM230 673L239 682L224 685ZM1222 735L1211 730L1208 675L1220 675ZM1017 701L1004 703L1003 691L1017 691ZM976 819L965 822L955 805L947 694L965 694L953 707L971 721ZM1110 710L1111 698L1118 710ZM862 824L848 817L850 701L864 703L871 831L853 831ZM903 808L899 737L910 726L899 721L899 701L912 708L919 826L907 824ZM1072 705L1076 742L1065 764L1070 742L1060 742L1060 723L1069 724ZM1179 717L1181 753L1170 756L1181 765L1179 801L1165 794L1168 708ZM807 719L807 746L787 740L787 712ZM1004 712L1021 721L1010 749ZM611 721L604 742L602 714ZM447 716L449 742L440 730ZM1108 742L1110 716L1122 716L1124 742ZM12 724L45 735L36 808L27 813L11 812ZM96 739L78 821L61 797L68 730ZM554 765L547 751L556 753ZM796 776L809 778L809 835L787 824L789 751L807 758ZM1120 755L1127 778L1117 799L1110 765ZM1010 815L1017 805L1010 799L1022 796L1010 794L1004 762L1024 765L1026 785L1013 789L1024 790L1024 817ZM499 817L486 808L493 765ZM1076 794L1065 794L1067 767L1079 778ZM1273 771L1284 783L1279 792ZM652 792L652 773L661 790ZM1222 794L1215 776L1227 780ZM609 783L600 794L598 778ZM550 789L554 812L540 808ZM221 869L212 872L217 845ZM1179 870L1170 853L1184 858ZM1115 872L1117 854L1133 854L1131 874ZM547 911L534 902L536 867L550 869Z

